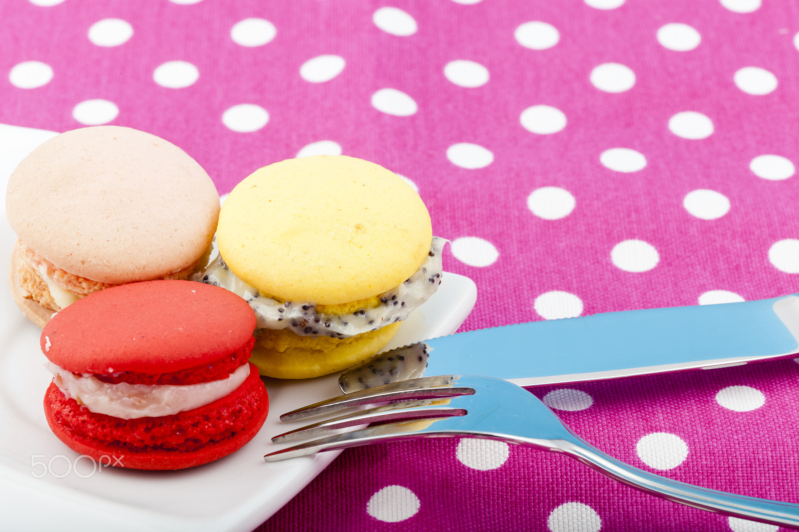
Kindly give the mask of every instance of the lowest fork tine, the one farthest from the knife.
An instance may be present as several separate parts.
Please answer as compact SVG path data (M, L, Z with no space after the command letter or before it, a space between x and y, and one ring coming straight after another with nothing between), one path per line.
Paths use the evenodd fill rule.
M358 431L345 432L344 434L315 439L307 443L300 443L293 447L280 449L280 451L274 451L268 455L264 455L264 460L266 462L277 462L279 460L292 459L298 456L314 455L323 451L360 447L370 443L396 442L403 439L419 438L419 436L433 436L437 434L427 429L436 421L441 421L441 418L415 419L414 421L387 423L385 425L368 427ZM446 435L443 432L441 434Z

